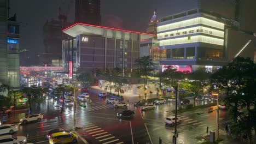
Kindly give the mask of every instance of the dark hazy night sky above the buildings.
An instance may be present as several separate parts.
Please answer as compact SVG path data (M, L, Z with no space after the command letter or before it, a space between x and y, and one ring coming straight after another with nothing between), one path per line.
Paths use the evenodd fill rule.
M44 51L43 25L47 20L57 19L59 7L62 13L66 13L68 5L71 8L68 13L68 22L74 21L75 0L10 0L10 17L16 13L18 21L22 22L20 28L20 49L30 50L27 56L27 64L37 65L37 55ZM217 1L218 4L216 3ZM197 5L207 10L217 11L225 16L233 14L235 0L102 0L101 17L102 26L128 29L131 31L145 32L149 20L156 11L158 18L176 14L180 11L196 8ZM73 4L71 4L73 2ZM255 0L242 1L241 27L250 27L256 31ZM217 4L217 5L216 5ZM230 7L231 5L231 7ZM230 7L230 8L228 8ZM246 12L245 12L246 10Z

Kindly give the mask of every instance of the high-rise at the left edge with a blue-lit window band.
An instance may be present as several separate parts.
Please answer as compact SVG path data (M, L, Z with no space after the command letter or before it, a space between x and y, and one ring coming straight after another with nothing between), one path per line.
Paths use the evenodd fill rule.
M16 14L8 19L8 1L0 1L0 85L20 87L20 22Z

